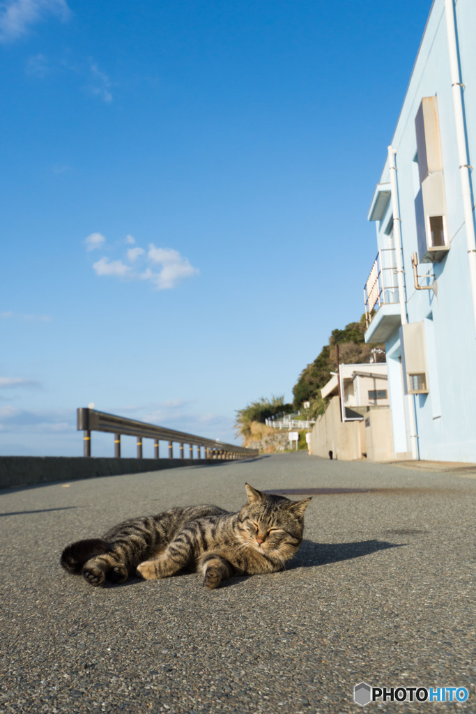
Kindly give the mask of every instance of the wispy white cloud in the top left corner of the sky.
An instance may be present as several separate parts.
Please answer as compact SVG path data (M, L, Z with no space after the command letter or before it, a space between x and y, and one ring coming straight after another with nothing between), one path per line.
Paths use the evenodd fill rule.
M66 21L71 11L66 0L2 0L0 3L0 41L16 40L31 25L53 14Z

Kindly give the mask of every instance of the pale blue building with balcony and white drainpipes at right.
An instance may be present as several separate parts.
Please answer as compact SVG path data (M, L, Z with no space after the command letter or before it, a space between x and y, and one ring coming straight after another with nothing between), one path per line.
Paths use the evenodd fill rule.
M475 0L434 0L368 213L396 458L476 462L475 37Z

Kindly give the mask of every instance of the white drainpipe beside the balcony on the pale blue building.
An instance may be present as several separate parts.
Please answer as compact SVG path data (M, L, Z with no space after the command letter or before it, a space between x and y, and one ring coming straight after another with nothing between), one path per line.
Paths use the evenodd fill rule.
M395 164L396 149L393 146L388 147L388 166L390 169L390 189L392 196L392 213L393 213L393 243L395 246L395 266L397 268L397 285L398 285L398 302L400 304L400 318L402 325L408 323L407 318L407 303L405 302L405 273L403 271L402 258L402 233L400 231L400 207L398 205L398 185L397 185L397 166ZM403 343L402 343L403 352ZM417 418L415 416L415 399L412 394L405 394L407 401L408 421L410 424L410 444L412 448L412 459L418 460L418 433L417 433Z

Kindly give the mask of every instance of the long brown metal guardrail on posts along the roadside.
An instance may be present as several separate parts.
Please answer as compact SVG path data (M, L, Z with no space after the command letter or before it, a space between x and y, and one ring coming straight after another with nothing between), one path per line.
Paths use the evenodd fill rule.
M180 444L180 458L184 457L184 445L188 444L189 458L193 456L193 446L197 448L198 459L242 459L258 456L258 449L235 446L234 444L223 443L223 441L213 441L202 436L195 436L184 431L176 431L155 424L148 424L145 421L135 421L126 419L115 414L108 414L88 407L79 408L77 411L78 431L84 432L84 456L91 456L91 431L107 431L114 436L114 456L121 457L121 436L137 437L137 458L142 457L142 440L151 438L154 440L154 458L159 458L159 441L168 442L168 458L173 458L173 444Z

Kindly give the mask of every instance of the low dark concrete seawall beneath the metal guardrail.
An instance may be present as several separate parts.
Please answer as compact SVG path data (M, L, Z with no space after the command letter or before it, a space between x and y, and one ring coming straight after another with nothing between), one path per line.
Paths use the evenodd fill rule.
M96 476L161 471L178 466L213 466L217 459L83 458L82 456L0 456L0 488L34 486L51 481L76 481Z

